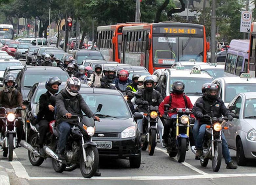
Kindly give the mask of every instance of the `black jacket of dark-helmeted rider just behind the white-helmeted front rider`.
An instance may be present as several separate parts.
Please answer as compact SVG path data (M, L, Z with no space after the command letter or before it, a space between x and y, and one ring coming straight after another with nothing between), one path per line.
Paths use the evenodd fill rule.
M49 91L42 94L39 98L39 112L37 113L37 120L47 120L52 121L54 120L54 111L51 111L49 109L49 105L52 105L55 107L55 102L50 100L50 97L52 96Z

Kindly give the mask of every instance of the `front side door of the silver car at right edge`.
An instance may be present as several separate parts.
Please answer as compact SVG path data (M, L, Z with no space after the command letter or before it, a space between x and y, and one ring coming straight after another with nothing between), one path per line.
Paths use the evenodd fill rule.
M233 121L228 121L227 126L228 129L225 130L224 134L227 140L228 145L231 148L236 148L236 133L239 129L240 118L242 116L242 96L238 95L236 98L232 100L230 106L234 105L235 108L232 112L236 115L239 115L239 118L234 118Z

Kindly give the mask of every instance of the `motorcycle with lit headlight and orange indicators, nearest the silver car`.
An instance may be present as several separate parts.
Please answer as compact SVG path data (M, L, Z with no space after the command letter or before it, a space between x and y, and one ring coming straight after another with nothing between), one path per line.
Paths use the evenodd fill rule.
M197 107L203 108L202 103L197 103ZM205 109L204 109L205 110ZM205 111L207 112L207 111ZM210 124L206 125L205 136L203 140L203 153L200 157L200 164L206 167L209 160L212 160L212 169L214 172L218 172L221 167L222 161L222 129L228 129L225 125L228 118L211 117L209 115L204 115L203 119L210 121Z

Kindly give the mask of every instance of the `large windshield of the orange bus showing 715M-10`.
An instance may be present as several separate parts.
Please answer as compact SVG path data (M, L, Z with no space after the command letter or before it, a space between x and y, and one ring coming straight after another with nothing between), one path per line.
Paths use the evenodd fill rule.
M153 58L156 65L172 65L190 59L203 62L203 37L154 36Z

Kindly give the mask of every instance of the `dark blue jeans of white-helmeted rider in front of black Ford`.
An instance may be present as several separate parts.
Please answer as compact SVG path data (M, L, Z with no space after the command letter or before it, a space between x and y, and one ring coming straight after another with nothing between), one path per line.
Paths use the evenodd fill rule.
M58 125L58 130L60 132L59 141L58 141L58 152L63 153L65 151L66 143L71 131L71 125L67 122L61 122Z

